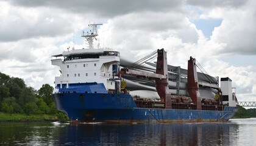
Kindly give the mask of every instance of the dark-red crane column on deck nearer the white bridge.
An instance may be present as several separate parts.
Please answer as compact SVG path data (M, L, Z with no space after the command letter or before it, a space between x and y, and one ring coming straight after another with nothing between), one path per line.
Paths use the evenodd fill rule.
M168 66L166 52L164 49L157 50L156 74L165 75L166 78L156 78L155 88L161 99L165 100L165 108L171 108L171 91L168 87Z

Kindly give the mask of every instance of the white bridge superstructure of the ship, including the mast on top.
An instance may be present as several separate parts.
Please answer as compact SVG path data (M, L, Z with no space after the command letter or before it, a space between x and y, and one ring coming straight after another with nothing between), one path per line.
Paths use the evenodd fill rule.
M115 89L114 73L118 71L120 55L119 52L94 49L93 40L98 36L97 26L101 24L90 24L93 31L84 35L88 41L88 49L72 49L64 51L51 60L53 65L60 67L61 75L55 77L55 86L60 88L71 83L104 83L108 90Z

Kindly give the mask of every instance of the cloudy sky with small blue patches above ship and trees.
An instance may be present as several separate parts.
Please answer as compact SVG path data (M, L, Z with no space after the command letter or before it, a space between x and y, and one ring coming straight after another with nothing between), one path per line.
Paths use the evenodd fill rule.
M256 101L256 1L0 0L0 72L35 89L59 73L51 56L81 49L89 23L98 42L132 61L164 48L168 64L190 56L208 74L229 77L239 101ZM73 39L75 38L75 39Z

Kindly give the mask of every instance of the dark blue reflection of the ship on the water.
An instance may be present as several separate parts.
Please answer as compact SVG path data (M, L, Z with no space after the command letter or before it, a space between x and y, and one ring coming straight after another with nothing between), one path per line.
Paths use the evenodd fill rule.
M232 145L238 125L72 124L56 132L54 145Z

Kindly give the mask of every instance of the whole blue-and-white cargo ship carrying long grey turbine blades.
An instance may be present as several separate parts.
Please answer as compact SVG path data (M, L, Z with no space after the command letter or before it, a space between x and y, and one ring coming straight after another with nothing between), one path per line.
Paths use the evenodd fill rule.
M219 78L193 57L188 69L168 65L164 49L135 63L118 51L94 49L99 25L82 33L87 48L52 55L60 68L52 96L71 123L224 122L238 111L229 77L221 78L219 87Z

